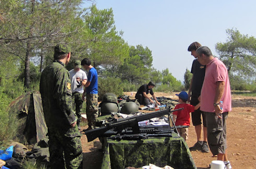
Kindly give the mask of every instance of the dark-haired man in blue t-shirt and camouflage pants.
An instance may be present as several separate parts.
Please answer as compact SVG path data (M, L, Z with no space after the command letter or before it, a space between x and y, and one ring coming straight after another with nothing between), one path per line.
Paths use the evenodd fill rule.
M91 61L88 58L82 60L81 65L89 70L87 82L85 84L85 92L82 99L85 100L86 96L86 115L88 120L88 128L95 127L95 119L99 116L98 108L98 73L97 70L91 66ZM86 95L85 95L86 93Z

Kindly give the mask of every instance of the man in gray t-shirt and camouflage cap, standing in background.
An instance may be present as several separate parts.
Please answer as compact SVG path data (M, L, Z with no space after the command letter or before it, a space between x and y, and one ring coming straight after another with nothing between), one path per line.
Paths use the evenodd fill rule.
M82 95L84 93L84 85L87 82L86 73L81 70L81 61L76 60L74 63L74 69L69 71L70 79L71 79L71 90L72 90L72 107L76 111L77 115L77 126L80 129L80 122L82 119L81 111L83 107Z

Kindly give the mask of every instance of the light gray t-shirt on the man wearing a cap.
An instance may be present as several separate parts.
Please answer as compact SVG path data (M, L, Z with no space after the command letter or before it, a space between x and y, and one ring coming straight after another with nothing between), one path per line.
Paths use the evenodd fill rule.
M76 81L77 77L80 77L80 80L87 80L87 75L83 70L79 70L78 72L76 72L74 69L72 69L71 71L69 71L70 74L70 80L71 80L71 90L72 93L74 92L78 92L78 93L84 93L84 86L80 86L77 87L77 85L79 85ZM82 82L81 82L82 83Z

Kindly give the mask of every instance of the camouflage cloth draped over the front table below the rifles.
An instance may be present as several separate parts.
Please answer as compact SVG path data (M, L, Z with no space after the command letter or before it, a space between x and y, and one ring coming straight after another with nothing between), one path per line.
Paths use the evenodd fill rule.
M172 137L148 137L144 140L112 140L106 138L101 169L142 167L152 163L175 169L196 168L187 143L176 133Z

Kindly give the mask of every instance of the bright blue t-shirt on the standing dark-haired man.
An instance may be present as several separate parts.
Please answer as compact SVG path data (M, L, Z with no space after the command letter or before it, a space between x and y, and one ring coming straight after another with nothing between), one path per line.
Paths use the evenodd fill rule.
M89 70L88 81L91 83L86 88L86 93L87 94L98 94L98 73L94 67Z

